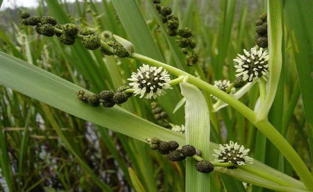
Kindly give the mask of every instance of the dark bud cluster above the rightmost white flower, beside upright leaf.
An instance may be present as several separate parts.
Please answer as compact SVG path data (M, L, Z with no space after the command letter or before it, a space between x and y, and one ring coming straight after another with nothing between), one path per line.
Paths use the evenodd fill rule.
M259 19L255 22L256 34L255 42L261 48L268 47L268 37L267 37L267 13L263 13L259 16Z

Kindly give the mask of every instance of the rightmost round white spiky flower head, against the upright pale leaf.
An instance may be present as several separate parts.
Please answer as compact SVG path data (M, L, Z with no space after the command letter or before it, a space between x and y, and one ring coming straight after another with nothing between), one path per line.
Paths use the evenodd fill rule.
M242 76L242 79L248 82L259 81L260 77L267 81L266 76L269 74L269 55L267 51L263 51L263 48L258 51L256 48L251 48L250 52L244 49L244 54L238 54L238 57L233 59L238 63L238 65L235 65L235 68L237 68L236 77Z

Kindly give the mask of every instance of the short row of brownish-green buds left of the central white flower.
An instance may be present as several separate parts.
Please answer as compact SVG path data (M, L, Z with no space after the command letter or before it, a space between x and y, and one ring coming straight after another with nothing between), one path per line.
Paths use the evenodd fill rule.
M77 97L84 103L89 103L92 107L98 107L100 103L104 107L113 107L115 104L123 104L133 93L125 93L126 89L129 89L129 85L122 85L116 89L114 93L112 90L104 90L99 94L88 94L84 90L77 91Z

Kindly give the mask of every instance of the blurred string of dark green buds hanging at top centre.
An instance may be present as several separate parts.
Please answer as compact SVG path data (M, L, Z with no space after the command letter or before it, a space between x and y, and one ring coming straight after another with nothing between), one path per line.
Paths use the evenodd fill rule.
M160 14L162 22L167 26L167 32L170 36L176 38L177 45L182 48L182 53L186 55L186 65L192 66L198 62L199 55L194 52L197 43L192 39L192 31L187 27L179 28L178 17L172 14L172 9L167 6L160 6L161 0L153 0L156 10Z

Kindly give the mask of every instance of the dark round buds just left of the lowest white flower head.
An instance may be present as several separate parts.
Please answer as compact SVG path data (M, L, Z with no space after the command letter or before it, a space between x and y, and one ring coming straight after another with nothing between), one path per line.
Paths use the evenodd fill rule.
M178 149L179 144L176 141L166 142L156 137L147 139L147 141L150 143L150 149L158 150L160 154L166 155L167 159L170 161L182 161L187 157L201 155L192 145L184 145L181 149ZM207 160L198 161L195 168L201 173L210 173L214 170L213 164Z

